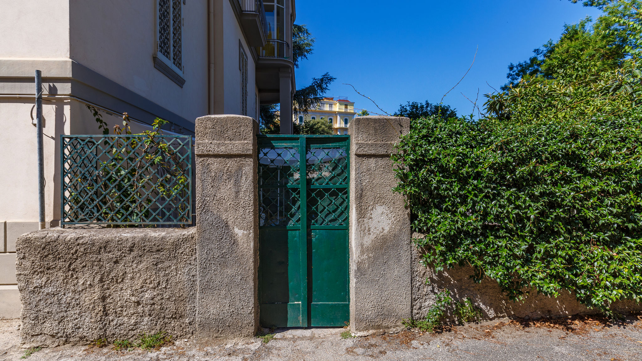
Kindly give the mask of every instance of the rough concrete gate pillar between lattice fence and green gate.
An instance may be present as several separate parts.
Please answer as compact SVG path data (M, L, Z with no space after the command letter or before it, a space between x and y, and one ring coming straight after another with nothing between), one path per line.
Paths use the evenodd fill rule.
M258 319L256 121L196 119L196 336L250 337Z

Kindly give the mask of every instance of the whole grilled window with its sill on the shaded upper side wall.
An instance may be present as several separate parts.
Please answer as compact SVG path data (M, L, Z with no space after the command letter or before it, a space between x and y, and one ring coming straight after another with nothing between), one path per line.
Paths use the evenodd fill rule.
M183 75L182 0L157 0L157 52L154 67L180 87Z

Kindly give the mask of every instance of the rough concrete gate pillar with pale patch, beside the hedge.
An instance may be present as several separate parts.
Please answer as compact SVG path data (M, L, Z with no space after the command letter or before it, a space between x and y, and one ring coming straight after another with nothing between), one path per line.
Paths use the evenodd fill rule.
M393 331L412 315L410 215L390 154L410 119L363 116L349 124L350 326L360 335Z

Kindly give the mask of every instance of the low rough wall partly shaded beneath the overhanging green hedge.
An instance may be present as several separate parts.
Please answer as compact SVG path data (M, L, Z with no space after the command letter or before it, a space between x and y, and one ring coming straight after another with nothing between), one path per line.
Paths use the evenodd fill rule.
M413 238L419 236L414 234ZM548 297L531 292L525 300L513 302L501 292L498 283L493 279L484 279L474 283L470 278L472 267L457 267L435 273L432 267L421 265L421 252L412 247L412 315L422 319L435 303L435 294L440 290L449 290L455 301L464 301L470 297L474 306L482 310L487 319L516 316L531 319L541 317L563 317L568 315L589 315L599 310L589 309L575 299L569 292L560 292L559 297ZM642 311L642 304L634 301L620 301L613 304L617 312Z

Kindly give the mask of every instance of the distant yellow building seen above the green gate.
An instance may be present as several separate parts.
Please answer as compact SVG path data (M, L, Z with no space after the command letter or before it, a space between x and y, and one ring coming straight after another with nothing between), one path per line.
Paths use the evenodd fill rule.
M348 134L348 125L356 115L354 101L347 100L347 96L324 98L318 107L310 109L308 114L297 114L294 121L303 124L309 119L324 119L332 125L334 134Z

